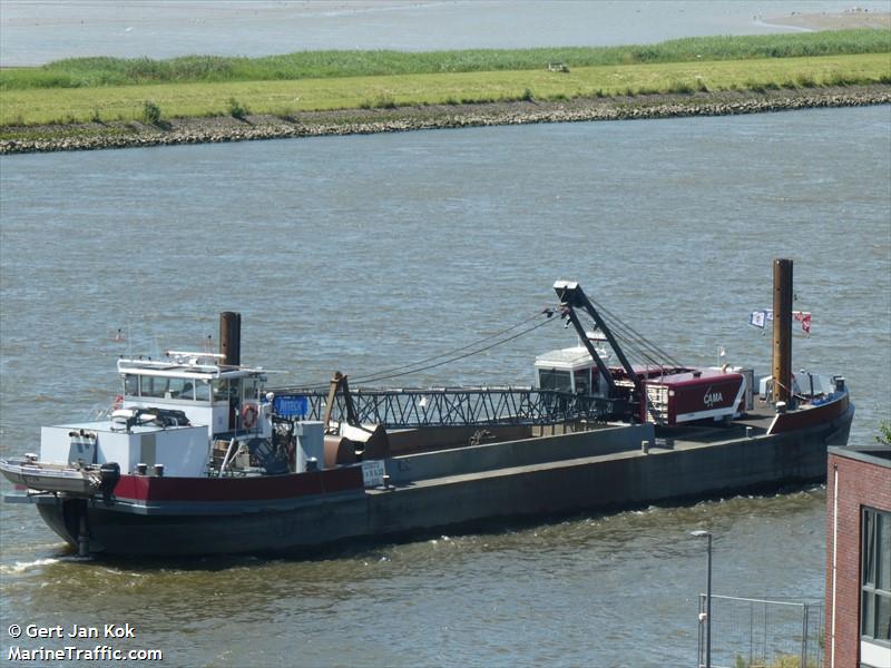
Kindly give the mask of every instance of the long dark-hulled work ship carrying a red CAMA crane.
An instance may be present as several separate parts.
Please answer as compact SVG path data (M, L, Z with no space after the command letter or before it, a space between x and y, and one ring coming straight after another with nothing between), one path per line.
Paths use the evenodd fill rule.
M295 553L492 518L607 511L825 478L853 419L844 379L791 372L791 261L774 263L774 369L631 364L636 334L558 281L578 345L535 361L529 387L271 389L218 353L120 358L100 420L43 426L0 460L7 502L37 507L79 554ZM594 330L588 330L588 326Z

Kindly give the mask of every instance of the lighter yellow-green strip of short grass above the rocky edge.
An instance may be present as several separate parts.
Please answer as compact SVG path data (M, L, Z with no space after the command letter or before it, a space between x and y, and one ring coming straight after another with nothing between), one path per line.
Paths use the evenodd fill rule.
M703 60L570 66L570 71L467 71L101 88L9 89L0 125L173 119L180 117L388 108L481 101L652 95L660 92L812 88L891 84L891 56ZM157 117L147 117L155 109ZM154 112L153 112L154 114ZM149 115L150 116L150 115Z

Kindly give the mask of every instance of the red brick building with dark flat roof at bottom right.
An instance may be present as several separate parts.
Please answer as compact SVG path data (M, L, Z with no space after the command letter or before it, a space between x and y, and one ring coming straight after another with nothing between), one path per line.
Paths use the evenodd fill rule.
M891 668L891 448L830 448L826 668Z

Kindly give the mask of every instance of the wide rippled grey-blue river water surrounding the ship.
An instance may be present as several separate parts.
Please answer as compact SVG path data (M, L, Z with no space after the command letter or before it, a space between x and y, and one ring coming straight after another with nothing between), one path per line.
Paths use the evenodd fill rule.
M0 158L0 455L106 405L116 355L200 346L223 310L246 362L319 382L492 334L577 278L675 357L723 345L766 373L746 323L777 256L814 314L795 365L843 373L871 441L891 414L890 128L884 106ZM405 382L528 384L571 342L549 325ZM718 593L821 597L824 509L817 488L145 563L78 562L4 504L0 629L129 621L123 647L187 666L691 665L687 532L715 533Z

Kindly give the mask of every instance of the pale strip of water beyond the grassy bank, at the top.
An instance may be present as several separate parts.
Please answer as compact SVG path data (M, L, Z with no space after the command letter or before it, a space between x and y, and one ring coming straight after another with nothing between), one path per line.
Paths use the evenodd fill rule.
M887 0L0 0L0 65L79 56L265 56L649 43L799 30L791 13L888 12Z

